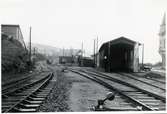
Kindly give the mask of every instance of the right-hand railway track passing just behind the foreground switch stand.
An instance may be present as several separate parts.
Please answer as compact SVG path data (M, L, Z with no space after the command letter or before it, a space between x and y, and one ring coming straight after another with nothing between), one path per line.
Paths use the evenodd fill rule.
M97 83L100 83L104 87L114 91L117 93L118 97L122 97L124 101L122 101L124 106L131 106L131 108L123 109L124 111L132 110L143 110L143 111L159 111L165 110L165 99L159 96L156 96L150 92L141 90L136 87L132 87L131 85L122 83L118 80L112 79L111 77L107 77L101 74L97 74L95 72L90 72L88 70L72 70L71 71L78 73L86 78L89 78ZM140 107L140 108L139 108ZM121 108L111 106L110 110L120 111Z

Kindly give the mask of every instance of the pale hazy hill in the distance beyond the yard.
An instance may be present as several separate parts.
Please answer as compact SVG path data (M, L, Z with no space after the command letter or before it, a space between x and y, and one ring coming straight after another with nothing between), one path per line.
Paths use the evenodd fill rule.
M28 43L27 43L28 44ZM28 47L28 45L27 45ZM35 51L49 56L71 56L75 55L79 49L61 49L54 46L32 43L32 53ZM64 54L63 54L64 53Z

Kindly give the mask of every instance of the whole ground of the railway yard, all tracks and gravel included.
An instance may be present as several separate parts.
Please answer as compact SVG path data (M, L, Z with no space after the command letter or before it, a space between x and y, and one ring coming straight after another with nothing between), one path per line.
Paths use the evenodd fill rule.
M3 78L2 113L165 111L165 86L164 76L52 64L20 78ZM115 98L97 108L109 92Z

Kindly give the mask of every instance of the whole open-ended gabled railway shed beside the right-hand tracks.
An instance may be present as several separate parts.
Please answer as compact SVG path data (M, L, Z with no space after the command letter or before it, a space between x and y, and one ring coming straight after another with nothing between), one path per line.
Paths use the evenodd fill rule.
M138 72L140 45L140 43L125 37L102 44L99 49L99 67L107 72Z

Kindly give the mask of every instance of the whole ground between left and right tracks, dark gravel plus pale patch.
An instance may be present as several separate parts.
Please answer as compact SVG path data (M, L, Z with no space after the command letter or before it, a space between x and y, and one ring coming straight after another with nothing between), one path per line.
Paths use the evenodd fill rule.
M54 69L53 89L38 112L85 112L103 99L108 89L70 71Z

